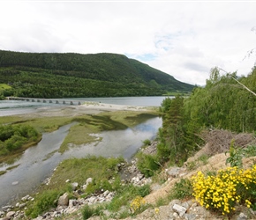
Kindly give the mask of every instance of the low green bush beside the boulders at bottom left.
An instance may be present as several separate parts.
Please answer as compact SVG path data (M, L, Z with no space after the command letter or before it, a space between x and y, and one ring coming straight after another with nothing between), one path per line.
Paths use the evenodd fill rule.
M35 218L48 209L56 207L59 195L57 190L47 190L38 194L35 198L35 202L30 204L28 209L26 209L26 215Z

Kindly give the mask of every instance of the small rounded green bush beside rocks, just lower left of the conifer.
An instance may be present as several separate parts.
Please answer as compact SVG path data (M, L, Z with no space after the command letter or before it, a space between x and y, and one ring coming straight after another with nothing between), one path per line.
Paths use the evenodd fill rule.
M157 158L154 155L147 155L143 153L138 154L138 169L146 177L151 177L154 172L158 170L159 164L156 163Z

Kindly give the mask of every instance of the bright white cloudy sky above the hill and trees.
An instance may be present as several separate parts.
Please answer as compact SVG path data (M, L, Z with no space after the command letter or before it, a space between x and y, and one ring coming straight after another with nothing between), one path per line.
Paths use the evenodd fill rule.
M3 1L0 49L117 53L189 84L256 61L255 1Z

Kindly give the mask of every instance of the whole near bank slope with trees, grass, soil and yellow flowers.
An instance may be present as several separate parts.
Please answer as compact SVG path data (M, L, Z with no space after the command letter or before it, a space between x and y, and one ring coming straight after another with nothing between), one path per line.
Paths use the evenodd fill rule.
M136 155L139 176L151 178L152 185L123 181L123 158L70 158L28 202L26 215L35 217L56 207L64 192L79 200L107 189L115 194L110 202L84 205L72 214L76 216L63 214L60 219L242 219L240 214L255 219L255 85L256 68L247 77L221 75L214 68L206 86L195 88L190 97L164 99L156 150ZM176 180L167 176L170 171ZM65 181L83 186L87 178L92 182L79 188L80 194ZM174 216L174 199L191 204L187 216Z

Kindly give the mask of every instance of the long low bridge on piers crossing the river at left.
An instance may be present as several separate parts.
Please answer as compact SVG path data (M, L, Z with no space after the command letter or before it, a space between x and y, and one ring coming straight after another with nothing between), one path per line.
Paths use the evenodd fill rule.
M81 105L82 101L79 100L64 100L64 99L37 99L37 98L21 98L21 97L7 97L8 100L19 100L19 101L31 101L31 102L42 102L52 103L60 105Z

